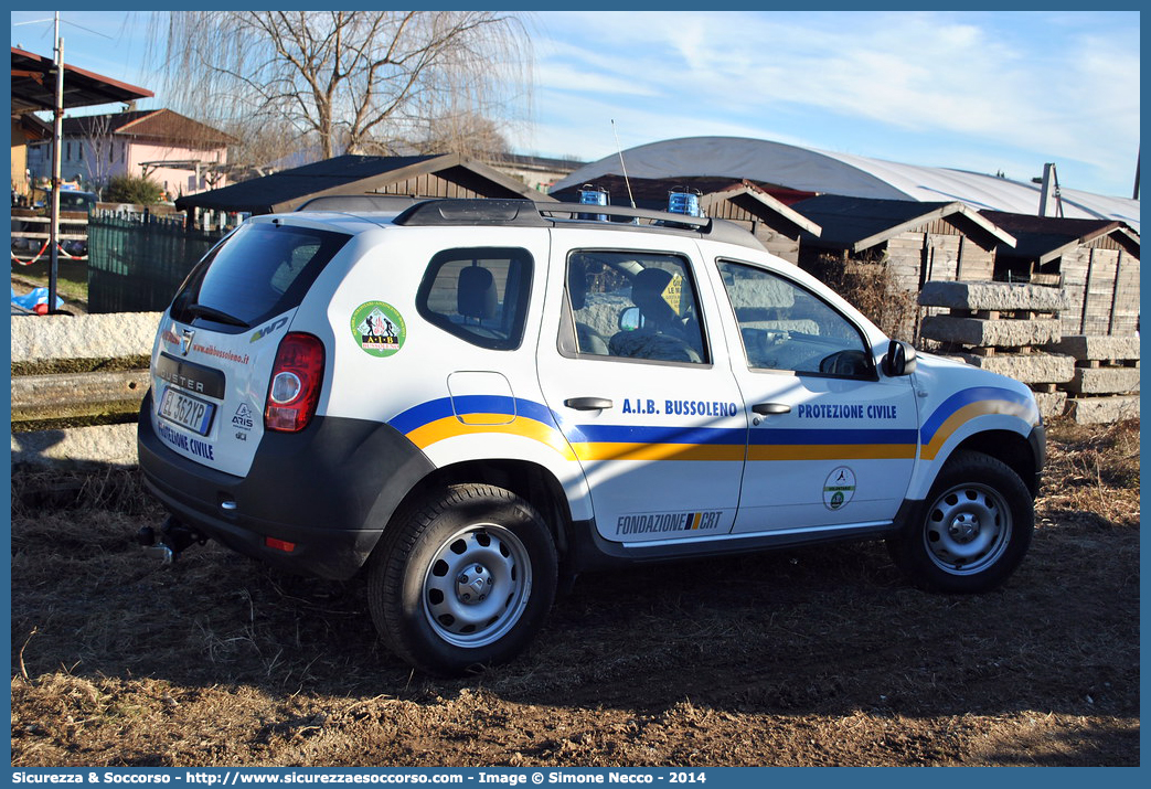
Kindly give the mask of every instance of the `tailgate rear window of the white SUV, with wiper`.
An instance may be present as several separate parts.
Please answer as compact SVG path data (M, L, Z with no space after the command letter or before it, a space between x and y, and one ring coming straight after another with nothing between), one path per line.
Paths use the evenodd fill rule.
M246 328L299 306L351 236L289 224L244 224L180 288L171 316Z

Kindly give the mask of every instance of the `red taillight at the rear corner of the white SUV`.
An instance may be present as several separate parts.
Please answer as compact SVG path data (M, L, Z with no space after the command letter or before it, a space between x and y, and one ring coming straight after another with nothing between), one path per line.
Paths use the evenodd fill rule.
M272 368L264 427L282 432L306 428L320 401L322 383L323 344L312 335L285 335Z

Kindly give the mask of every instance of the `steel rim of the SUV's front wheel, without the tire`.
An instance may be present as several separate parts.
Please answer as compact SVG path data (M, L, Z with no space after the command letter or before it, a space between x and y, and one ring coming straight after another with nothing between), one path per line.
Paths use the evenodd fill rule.
M1011 542L1012 514L994 488L967 483L936 498L923 543L928 557L951 575L975 575L994 565Z

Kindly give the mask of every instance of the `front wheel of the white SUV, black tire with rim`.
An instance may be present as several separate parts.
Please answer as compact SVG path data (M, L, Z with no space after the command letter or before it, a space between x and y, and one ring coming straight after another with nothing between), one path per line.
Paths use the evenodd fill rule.
M1019 567L1031 544L1035 507L1007 465L978 452L956 452L917 514L887 552L922 589L989 591Z

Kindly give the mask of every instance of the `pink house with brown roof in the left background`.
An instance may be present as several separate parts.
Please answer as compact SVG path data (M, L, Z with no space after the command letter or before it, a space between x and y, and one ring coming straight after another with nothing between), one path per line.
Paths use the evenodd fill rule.
M96 191L119 175L147 176L166 199L227 186L234 137L170 109L130 110L64 118L60 152L64 182ZM51 147L29 151L35 175L51 173Z

